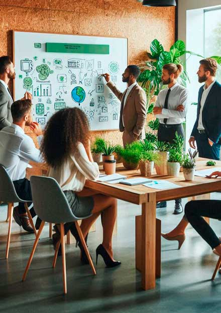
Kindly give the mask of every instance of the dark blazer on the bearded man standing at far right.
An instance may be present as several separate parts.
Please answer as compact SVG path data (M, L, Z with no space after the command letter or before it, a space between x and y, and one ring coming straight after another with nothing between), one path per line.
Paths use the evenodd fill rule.
M191 133L191 136L194 137L197 134L202 92L203 86L199 88L197 116ZM202 125L205 129L206 135L211 141L215 144L221 142L221 84L217 81L214 82L206 97L202 110Z

